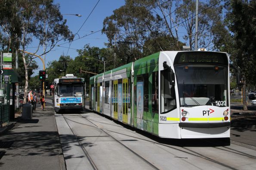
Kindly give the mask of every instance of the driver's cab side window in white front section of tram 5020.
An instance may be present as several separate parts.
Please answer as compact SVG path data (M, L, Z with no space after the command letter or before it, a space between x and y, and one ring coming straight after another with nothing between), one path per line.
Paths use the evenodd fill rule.
M169 70L161 71L161 113L167 113L177 108L174 85L168 79Z

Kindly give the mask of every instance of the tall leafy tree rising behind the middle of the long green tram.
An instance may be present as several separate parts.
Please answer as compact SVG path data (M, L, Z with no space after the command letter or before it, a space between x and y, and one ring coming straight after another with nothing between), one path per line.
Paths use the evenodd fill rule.
M102 33L108 37L108 47L113 48L116 42L132 42L129 45L122 45L122 48L130 48L133 58L125 51L115 48L117 54L126 54L126 63L130 63L142 56L143 49L151 48L145 46L145 41L149 39L151 33L157 31L159 20L153 16L142 4L143 0L126 0L126 4L114 10L114 14L106 17L103 21ZM136 50L135 50L136 49ZM150 49L149 49L150 50Z

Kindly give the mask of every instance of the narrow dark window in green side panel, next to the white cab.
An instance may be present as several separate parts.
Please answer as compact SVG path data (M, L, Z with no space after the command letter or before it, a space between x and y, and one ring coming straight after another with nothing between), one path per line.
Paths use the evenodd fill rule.
M152 73L152 112L158 113L158 71Z

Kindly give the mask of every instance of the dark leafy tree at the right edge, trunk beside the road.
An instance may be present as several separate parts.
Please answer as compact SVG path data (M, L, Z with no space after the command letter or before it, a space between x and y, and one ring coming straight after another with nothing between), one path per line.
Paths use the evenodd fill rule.
M247 110L247 82L256 83L256 1L231 0L226 2L228 29L232 32L231 60L243 74L243 105Z

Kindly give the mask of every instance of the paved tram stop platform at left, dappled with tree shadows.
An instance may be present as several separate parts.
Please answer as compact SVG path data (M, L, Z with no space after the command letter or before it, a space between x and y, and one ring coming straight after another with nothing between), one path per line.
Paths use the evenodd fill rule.
M15 114L15 122L0 129L0 169L66 169L49 97L44 111L37 103L31 120Z

